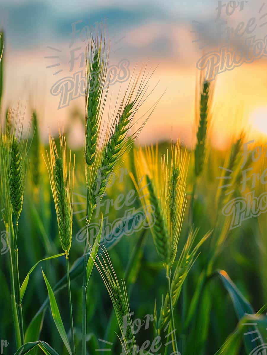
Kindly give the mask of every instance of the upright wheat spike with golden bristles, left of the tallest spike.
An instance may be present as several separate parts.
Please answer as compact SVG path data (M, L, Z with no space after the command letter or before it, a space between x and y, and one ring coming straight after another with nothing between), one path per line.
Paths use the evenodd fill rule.
M57 223L59 226L60 242L63 251L65 251L66 256L68 256L72 239L72 191L74 181L75 155L73 168L71 168L71 151L69 151L69 172L67 173L66 141L65 136L62 136L61 133L59 135L59 140L60 151L58 153L55 141L51 135L49 135L50 157L48 152L46 153L49 163L49 179L55 202Z

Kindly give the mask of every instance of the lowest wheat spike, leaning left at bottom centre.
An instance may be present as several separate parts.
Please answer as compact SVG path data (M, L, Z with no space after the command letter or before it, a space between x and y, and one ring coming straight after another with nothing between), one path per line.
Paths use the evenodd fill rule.
M135 338L133 334L132 321L130 318L130 310L128 304L128 297L126 293L126 286L123 283L123 290L121 290L121 287L119 286L118 283L117 276L112 267L106 249L102 249L101 247L100 249L102 250L101 256L100 257L97 256L96 261L94 261L94 259L93 261L104 281L107 291L109 292L115 310L117 322L120 331L122 333L122 338L123 338L122 344L124 344L126 350L136 351L137 347L136 347ZM127 320L127 324L128 324L126 329L125 329L126 326L125 320ZM128 354L127 351L126 354Z

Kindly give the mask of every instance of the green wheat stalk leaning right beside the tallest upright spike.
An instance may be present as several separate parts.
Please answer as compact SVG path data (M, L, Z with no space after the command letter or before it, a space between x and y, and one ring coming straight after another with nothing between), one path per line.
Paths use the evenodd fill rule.
M146 87L146 78L142 80L139 84L138 90L134 95L135 88L137 87L137 83L139 80L138 75L136 81L129 87L126 91L128 94L128 98L126 94L123 97L121 104L117 110L117 114L115 118L112 118L110 131L106 132L106 142L104 144L104 148L102 151L97 153L97 156L94 160L94 163L91 166L90 170L90 179L87 179L88 184L88 196L87 196L87 234L85 239L85 249L84 253L87 255L88 248L88 226L90 223L90 219L93 213L93 210L96 206L97 201L101 200L105 191L107 182L109 181L109 176L112 171L115 169L116 164L121 159L122 155L129 150L129 140L133 141L140 133L145 122L148 118L145 119L145 122L138 128L132 135L127 136L127 133L130 129L130 124L133 120L135 113L137 112L140 104L140 100L142 99L142 95L145 91ZM143 77L144 78L144 77ZM134 98L132 99L134 95ZM150 113L151 114L151 113ZM150 115L149 115L150 116ZM85 333L86 333L86 264L87 264L87 256L84 258L84 279L83 279L83 346L82 346L82 354L85 354L86 346L85 346Z

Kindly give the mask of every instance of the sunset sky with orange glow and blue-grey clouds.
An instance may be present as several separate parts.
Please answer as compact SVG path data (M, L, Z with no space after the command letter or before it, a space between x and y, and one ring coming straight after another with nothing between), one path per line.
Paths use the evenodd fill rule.
M57 129L58 122L67 126L74 108L84 112L85 99L70 100L69 105L59 109L60 95L52 95L50 89L60 80L64 83L64 78L71 82L71 77L83 70L79 60L71 70L69 66L72 54L84 53L86 36L80 32L89 24L95 28L106 20L111 45L110 66L126 60L130 75L143 63L147 64L147 70L156 69L149 81L149 92L153 89L152 93L140 109L140 115L163 94L141 132L139 142L180 137L191 147L194 145L195 82L199 75L196 63L204 53L223 47L225 38L218 34L218 21L227 20L227 24L221 27L225 34L228 26L241 28L243 21L245 29L248 24L250 33L230 39L237 49L244 48L245 39L254 35L254 39L264 42L267 34L267 4L262 1L241 1L232 15L227 15L224 6L216 22L217 6L217 1L207 0L1 1L1 27L5 31L4 102L11 107L16 107L18 102L23 107L26 105L26 117L30 115L30 107L36 109L44 139L48 129ZM240 6L244 7L242 11L239 11ZM249 23L251 17L255 17L255 21ZM71 45L74 23L77 33ZM86 34L86 29L83 31ZM45 58L51 56L59 58ZM122 93L127 83L129 81L117 82L110 87L112 109L119 88ZM260 133L267 136L266 122L266 58L263 56L219 73L216 77L213 144L223 147L243 127L252 139ZM78 123L73 128L71 143L73 146L83 143L83 131Z

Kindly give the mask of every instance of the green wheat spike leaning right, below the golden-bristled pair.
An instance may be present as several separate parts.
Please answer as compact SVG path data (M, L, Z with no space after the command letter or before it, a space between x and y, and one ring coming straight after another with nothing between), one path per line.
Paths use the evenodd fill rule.
M200 242L194 247L194 241L196 235L198 234L198 229L191 229L189 232L188 239L184 245L182 254L179 258L178 264L176 266L172 285L171 285L171 293L172 293L172 305L173 307L176 305L179 295L182 290L182 285L184 283L185 278L187 277L190 268L196 260L196 253L198 252L200 246L207 240L210 236L211 232L208 232ZM167 324L171 319L171 310L170 310L170 301L169 295L167 294L164 300L164 304L161 307L161 314L158 320L158 329L162 331L165 324Z

